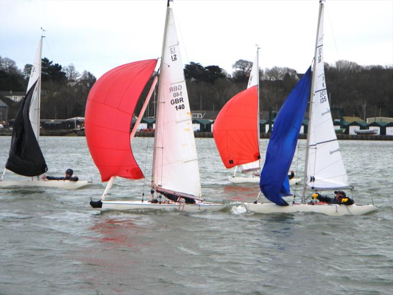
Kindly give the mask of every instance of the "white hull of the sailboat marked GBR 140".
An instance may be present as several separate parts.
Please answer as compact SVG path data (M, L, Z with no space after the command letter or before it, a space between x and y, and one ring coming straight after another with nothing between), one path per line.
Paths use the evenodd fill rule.
M220 211L224 209L224 204L218 203L169 203L169 204L152 204L147 201L103 201L101 208L95 208L100 211L105 210L163 210L163 211L185 211L185 212L201 212L201 211Z

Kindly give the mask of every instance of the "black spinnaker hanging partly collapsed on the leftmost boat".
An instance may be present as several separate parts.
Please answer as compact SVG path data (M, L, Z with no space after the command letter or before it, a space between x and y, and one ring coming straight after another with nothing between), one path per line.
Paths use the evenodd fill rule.
M11 148L5 163L5 168L24 176L38 176L48 171L28 116L37 82L28 90L19 107L12 131Z

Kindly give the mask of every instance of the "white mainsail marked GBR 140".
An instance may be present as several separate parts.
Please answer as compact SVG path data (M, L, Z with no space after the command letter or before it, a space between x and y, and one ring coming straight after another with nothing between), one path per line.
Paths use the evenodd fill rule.
M167 7L154 137L152 185L201 196L197 149L173 11Z

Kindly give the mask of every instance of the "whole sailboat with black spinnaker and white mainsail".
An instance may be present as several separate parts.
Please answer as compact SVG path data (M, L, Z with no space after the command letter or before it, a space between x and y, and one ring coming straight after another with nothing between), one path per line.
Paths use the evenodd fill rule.
M91 180L41 180L39 176L48 171L44 155L39 146L40 98L41 98L41 55L40 37L34 63L28 80L26 96L15 118L11 148L4 171L0 178L0 188L10 187L60 187L77 189L91 184ZM3 180L6 171L31 177L30 180Z

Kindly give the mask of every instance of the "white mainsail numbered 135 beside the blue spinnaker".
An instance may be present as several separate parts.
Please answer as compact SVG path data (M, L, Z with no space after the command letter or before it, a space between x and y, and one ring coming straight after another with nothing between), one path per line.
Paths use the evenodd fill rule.
M311 188L350 188L326 89L323 61L323 10L324 3L320 1L310 93L306 180Z

